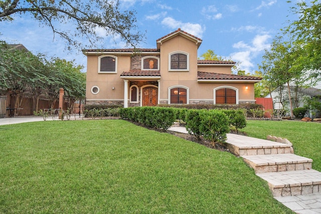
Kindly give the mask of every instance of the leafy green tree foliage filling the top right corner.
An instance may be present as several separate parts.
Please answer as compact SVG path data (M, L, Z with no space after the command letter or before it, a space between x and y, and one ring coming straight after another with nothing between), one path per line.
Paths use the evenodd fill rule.
M321 69L321 1L313 0L309 3L298 1L296 7L291 8L298 19L290 22L284 34L300 47L301 53L293 66L296 69L309 71L310 78L320 80Z

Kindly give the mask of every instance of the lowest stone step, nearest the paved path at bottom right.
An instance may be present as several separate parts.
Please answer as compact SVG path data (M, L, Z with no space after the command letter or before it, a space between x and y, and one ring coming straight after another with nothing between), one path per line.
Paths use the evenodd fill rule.
M314 169L257 173L268 182L273 196L321 193L321 172Z

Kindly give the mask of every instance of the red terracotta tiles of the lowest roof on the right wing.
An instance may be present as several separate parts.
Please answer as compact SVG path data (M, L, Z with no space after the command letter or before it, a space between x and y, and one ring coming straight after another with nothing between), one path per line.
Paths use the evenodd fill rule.
M261 77L241 76L234 74L218 74L208 72L197 72L198 80L261 80Z

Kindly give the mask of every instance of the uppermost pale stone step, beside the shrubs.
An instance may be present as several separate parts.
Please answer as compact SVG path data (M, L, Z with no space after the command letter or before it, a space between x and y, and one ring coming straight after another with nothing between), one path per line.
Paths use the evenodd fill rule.
M225 145L239 156L293 153L291 145L236 134L227 134Z

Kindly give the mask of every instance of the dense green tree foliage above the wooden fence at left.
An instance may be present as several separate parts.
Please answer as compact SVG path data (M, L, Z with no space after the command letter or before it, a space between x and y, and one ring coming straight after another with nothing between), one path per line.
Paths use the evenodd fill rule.
M37 110L40 96L51 97L52 103L64 88L72 101L85 97L86 74L82 66L59 58L45 60L43 55L18 50L6 43L0 44L0 88L9 89L19 99L24 93L31 95Z

